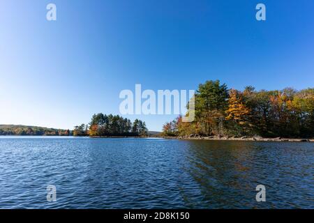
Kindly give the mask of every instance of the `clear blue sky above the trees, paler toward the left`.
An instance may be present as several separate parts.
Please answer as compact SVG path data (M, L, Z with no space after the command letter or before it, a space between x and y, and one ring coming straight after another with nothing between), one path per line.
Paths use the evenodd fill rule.
M313 87L314 1L0 1L1 124L72 129L96 112L119 114L120 91L135 84L197 89L207 79ZM174 116L128 118L161 130Z

